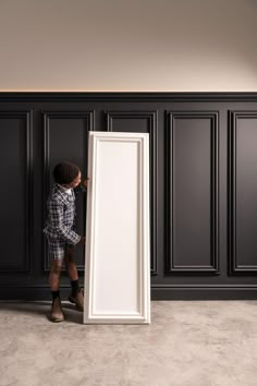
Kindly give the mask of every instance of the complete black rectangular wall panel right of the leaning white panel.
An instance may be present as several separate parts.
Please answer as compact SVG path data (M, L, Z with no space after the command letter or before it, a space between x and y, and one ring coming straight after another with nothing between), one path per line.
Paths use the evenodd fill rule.
M218 270L217 113L168 113L168 272Z

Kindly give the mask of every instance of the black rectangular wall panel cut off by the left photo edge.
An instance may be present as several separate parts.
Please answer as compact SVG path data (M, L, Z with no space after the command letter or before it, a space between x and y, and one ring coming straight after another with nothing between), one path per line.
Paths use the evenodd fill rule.
M28 272L32 256L32 113L0 111L0 272Z

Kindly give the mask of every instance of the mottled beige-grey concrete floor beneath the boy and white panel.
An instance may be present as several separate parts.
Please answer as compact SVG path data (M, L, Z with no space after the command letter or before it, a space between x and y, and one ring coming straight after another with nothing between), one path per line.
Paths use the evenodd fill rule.
M257 386L257 301L152 301L151 325L0 303L1 386Z

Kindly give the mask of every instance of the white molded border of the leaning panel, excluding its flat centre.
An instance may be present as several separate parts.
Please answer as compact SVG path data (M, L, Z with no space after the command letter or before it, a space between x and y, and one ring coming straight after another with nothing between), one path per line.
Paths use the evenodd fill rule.
M88 186L87 186L87 219L86 219L86 251L85 251L85 324L150 324L150 236L149 236L149 134L148 133L118 133L89 132L88 133ZM97 168L98 141L138 141L140 146L139 168L142 176L142 260L138 260L140 272L140 313L138 314L97 314L94 309L94 245L95 245L95 181Z

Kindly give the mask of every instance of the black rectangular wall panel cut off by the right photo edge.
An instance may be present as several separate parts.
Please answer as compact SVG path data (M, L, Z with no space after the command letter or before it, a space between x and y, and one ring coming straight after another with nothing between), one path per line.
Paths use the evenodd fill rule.
M230 273L257 275L257 111L230 118Z

